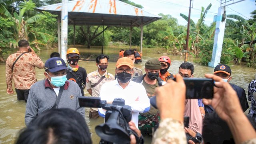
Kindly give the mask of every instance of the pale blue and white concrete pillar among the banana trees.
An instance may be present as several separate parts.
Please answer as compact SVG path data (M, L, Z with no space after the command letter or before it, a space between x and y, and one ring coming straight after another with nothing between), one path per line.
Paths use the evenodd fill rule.
M225 7L222 6L218 9L218 15L214 16L214 21L216 21L216 29L214 35L214 44L212 50L212 61L208 63L208 66L215 67L220 64L220 57L222 52L222 43L224 39L224 31L226 18L222 21L222 14L225 11Z

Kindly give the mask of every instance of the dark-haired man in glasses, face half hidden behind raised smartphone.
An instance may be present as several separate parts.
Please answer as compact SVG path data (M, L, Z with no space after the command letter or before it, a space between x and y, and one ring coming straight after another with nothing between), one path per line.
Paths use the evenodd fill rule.
M179 67L179 74L183 78L193 78L194 76L194 65L189 62L184 62ZM198 106L201 112L202 118L204 118L205 110L204 110L204 104L202 102L202 99L198 99Z

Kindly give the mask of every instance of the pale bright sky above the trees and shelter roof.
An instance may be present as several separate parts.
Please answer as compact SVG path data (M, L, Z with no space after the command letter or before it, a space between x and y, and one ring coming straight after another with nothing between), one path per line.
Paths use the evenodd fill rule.
M189 1L190 0L130 0L136 4L143 6L143 10L152 14L170 14L172 17L177 18L178 24L186 25L187 21L180 16L180 13L188 16ZM229 1L229 0L226 0ZM234 0L238 2L240 0ZM193 4L194 2L194 4ZM224 2L224 0L223 0ZM206 14L205 24L208 26L213 22L214 15L217 15L218 8L220 7L220 0L193 0L191 9L191 19L196 23L200 18L201 8L207 8L212 3L212 7ZM230 4L227 3L227 4ZM244 0L230 6L226 6L226 14L236 14L242 16L246 20L251 18L250 12L256 10L255 0Z

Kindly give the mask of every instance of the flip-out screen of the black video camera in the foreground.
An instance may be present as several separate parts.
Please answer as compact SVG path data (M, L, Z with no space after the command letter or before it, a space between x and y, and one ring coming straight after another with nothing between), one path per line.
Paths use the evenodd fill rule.
M79 96L79 105L88 108L100 108L100 98L91 96Z

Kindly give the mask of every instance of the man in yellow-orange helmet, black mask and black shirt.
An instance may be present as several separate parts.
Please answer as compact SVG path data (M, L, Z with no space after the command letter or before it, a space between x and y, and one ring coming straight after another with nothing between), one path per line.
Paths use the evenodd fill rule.
M82 96L84 96L84 88L86 83L87 73L86 70L78 66L80 53L76 48L69 48L67 51L68 69L67 79L73 80L78 84L81 89Z

